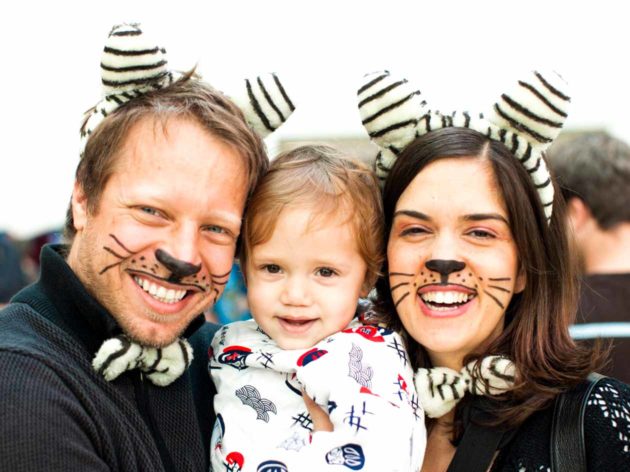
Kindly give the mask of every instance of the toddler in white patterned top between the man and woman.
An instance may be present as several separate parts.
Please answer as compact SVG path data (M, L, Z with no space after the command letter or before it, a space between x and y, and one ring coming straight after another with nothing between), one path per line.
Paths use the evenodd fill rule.
M424 414L405 346L359 303L378 276L383 232L364 166L327 146L272 162L242 230L253 320L212 343L213 471L420 470ZM332 432L313 431L303 392Z

